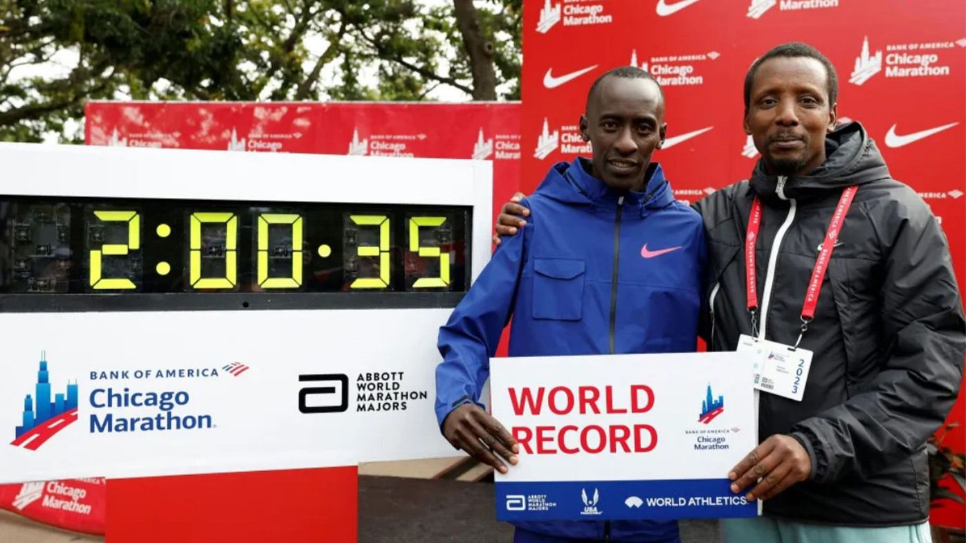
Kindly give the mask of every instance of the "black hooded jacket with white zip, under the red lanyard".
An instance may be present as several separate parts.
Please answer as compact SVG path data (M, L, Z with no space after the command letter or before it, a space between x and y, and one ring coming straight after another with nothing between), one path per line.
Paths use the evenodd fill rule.
M765 501L764 511L848 526L921 523L929 511L924 443L952 408L966 349L949 246L862 126L837 129L826 151L810 176L776 178L759 162L750 182L696 204L711 273L704 337L712 350L729 351L739 334L752 334L742 248L757 194L758 328L794 344L818 246L842 189L859 185L802 339L814 352L805 397L760 394L761 440L790 434L812 460L810 480Z

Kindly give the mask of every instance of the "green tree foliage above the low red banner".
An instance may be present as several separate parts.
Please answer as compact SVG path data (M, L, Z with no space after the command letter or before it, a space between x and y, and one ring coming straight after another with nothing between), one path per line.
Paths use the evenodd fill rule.
M85 100L426 100L473 95L453 5L416 0L0 0L0 140L74 128ZM477 0L520 95L521 0ZM477 61L478 62L478 61Z

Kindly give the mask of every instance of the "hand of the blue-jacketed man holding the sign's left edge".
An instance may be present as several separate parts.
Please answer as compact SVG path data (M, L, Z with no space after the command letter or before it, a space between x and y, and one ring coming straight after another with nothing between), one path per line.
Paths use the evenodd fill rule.
M497 472L507 470L501 458L513 465L518 462L520 445L496 418L475 404L463 404L447 414L442 421L442 435Z

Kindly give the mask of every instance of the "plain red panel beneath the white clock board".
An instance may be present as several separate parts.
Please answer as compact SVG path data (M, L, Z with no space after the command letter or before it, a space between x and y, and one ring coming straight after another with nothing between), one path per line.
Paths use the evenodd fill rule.
M107 543L355 543L355 466L107 483Z

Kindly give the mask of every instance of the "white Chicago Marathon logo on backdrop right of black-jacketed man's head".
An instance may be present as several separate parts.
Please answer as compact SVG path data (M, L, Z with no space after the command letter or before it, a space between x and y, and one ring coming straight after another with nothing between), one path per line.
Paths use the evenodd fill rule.
M855 57L848 81L863 85L881 71L885 71L887 78L944 77L952 71L950 63L952 57L958 54L955 51L957 46L966 47L966 39L955 42L890 43L883 51L882 48L873 47L866 36L859 55Z

